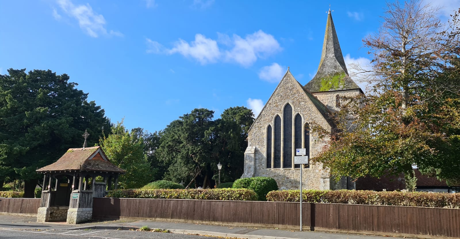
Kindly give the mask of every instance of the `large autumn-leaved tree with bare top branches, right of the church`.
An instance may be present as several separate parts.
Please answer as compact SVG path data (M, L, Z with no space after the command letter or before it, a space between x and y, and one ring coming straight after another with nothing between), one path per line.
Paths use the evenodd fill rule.
M341 131L317 162L336 176L403 173L409 190L413 165L448 183L460 179L460 131L452 123L460 120L458 16L444 25L421 1L387 4L380 29L364 40L374 62L372 91L342 107Z

